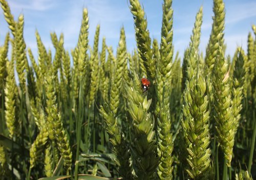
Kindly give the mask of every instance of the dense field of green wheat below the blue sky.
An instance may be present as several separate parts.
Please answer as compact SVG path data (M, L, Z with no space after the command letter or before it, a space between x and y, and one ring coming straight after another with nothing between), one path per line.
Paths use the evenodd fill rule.
M50 33L52 53L36 31L35 55L24 15L0 3L9 26L0 45L0 179L256 178L256 26L246 52L225 54L223 0L213 0L205 55L203 7L184 52L174 54L172 0L163 0L160 42L130 0L133 52L121 28L114 54L100 25L91 47L85 8L73 50Z

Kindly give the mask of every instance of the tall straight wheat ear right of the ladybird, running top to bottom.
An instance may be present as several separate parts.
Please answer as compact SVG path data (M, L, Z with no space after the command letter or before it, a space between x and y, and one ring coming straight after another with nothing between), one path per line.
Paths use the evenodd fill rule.
M170 133L170 83L173 60L173 9L172 1L166 0L163 4L163 18L160 50L157 42L153 41L153 57L159 62L156 70L156 93L157 108L155 114L158 116L158 156L161 157L158 165L158 177L160 179L172 179L173 163L173 140ZM155 44L154 44L155 43ZM159 54L160 52L160 54ZM159 56L160 55L160 56Z

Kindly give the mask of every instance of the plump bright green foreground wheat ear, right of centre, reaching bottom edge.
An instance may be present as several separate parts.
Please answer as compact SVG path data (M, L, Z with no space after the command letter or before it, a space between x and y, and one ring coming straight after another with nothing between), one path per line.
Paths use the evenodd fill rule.
M190 144L187 147L189 168L186 171L193 179L209 179L211 152L206 82L200 74L195 77L196 84L189 89L192 102L189 104L189 112L192 119L189 120L187 128Z

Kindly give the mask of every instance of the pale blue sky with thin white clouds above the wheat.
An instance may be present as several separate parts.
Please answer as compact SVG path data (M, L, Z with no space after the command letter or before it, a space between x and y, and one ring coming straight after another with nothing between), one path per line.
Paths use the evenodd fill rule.
M148 29L151 38L160 41L162 3L160 0L140 0L144 7ZM82 9L89 12L89 43L93 44L97 24L100 24L100 47L102 37L106 37L108 46L117 48L119 32L124 26L127 49L132 52L136 47L133 16L129 9L129 0L8 0L11 12L17 19L20 13L25 16L25 41L37 56L35 30L37 29L47 49L53 46L50 32L59 36L64 33L64 46L67 50L74 49L82 19ZM255 0L226 0L225 43L226 54L233 55L237 46L247 49L247 35L251 26L256 24ZM194 26L196 13L203 6L203 25L201 33L200 51L205 52L212 24L213 2L209 0L174 0L174 47L180 56L189 44L189 37ZM7 22L4 20L3 11L0 10L0 43L8 31Z

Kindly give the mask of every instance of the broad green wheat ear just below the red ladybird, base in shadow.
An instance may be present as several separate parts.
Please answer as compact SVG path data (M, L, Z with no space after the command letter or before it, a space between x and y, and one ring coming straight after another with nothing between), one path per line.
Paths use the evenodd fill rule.
M138 76L135 76L132 86L124 82L127 109L132 120L132 162L138 179L156 179L156 168L160 158L157 155L155 122L151 113L148 113L152 100L147 100L146 94L142 94L138 84Z

